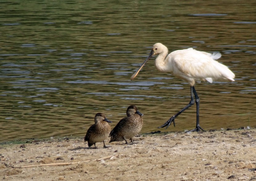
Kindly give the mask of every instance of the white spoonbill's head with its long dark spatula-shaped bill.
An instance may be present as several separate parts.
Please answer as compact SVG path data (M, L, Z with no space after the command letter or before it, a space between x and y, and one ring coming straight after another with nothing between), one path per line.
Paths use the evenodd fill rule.
M140 68L131 76L131 81L138 75L139 71L142 69L142 67L147 63L147 61L154 55L160 54L164 51L168 52L168 49L166 46L164 46L162 43L156 43L153 45L151 52L149 53L146 60L143 62L143 64L140 66Z

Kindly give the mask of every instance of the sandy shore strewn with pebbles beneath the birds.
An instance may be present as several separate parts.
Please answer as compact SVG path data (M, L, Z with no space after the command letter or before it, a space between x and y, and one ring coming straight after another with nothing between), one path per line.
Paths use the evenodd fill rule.
M98 149L82 137L1 144L0 179L256 181L256 129L143 134L134 142Z

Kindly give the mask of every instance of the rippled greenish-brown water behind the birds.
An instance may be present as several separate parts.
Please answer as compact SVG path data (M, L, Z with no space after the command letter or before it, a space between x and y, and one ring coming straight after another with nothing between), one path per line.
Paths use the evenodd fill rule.
M196 84L200 126L256 126L255 1L0 2L0 141L84 136L103 112L112 127L135 104L142 132L158 130L188 104L189 85L151 60L130 76L156 42L169 52L220 52L235 82ZM196 106L176 119L195 127Z

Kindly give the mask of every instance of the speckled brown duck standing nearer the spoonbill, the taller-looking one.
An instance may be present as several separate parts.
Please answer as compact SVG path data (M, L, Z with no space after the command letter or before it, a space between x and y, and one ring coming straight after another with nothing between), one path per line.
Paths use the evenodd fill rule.
M143 124L141 117L143 114L138 111L136 106L131 105L127 108L126 115L127 117L120 120L110 132L111 139L109 143L125 140L125 143L128 144L127 139L130 139L133 143L132 138L140 132Z

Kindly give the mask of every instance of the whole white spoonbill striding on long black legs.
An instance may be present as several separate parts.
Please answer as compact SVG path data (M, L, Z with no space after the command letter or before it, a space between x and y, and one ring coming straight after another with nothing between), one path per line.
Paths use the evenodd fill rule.
M147 63L147 61L153 56L158 55L155 59L155 68L160 72L171 73L177 78L187 81L190 85L191 100L184 108L172 116L165 124L158 128L168 128L173 122L175 126L175 118L182 112L188 109L195 103L196 100L196 128L190 130L191 132L200 129L199 126L199 97L197 96L196 89L194 87L195 82L208 81L212 83L215 80L234 81L235 74L229 70L229 68L216 60L221 57L221 53L206 53L200 52L193 48L176 50L171 52L168 56L168 49L161 43L153 45L151 52L147 59L143 62L140 68L131 76L133 80ZM194 96L195 100L194 100ZM166 129L165 128L165 129ZM204 130L203 130L204 131Z

